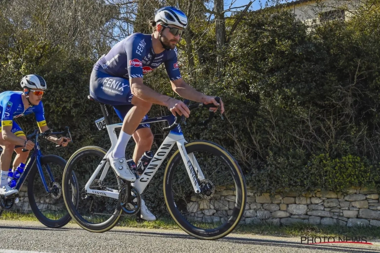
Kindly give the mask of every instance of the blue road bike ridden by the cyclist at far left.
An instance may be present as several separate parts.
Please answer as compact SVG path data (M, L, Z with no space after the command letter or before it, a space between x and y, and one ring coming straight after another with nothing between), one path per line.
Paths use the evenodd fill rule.
M60 228L65 226L71 220L67 213L66 206L62 197L62 174L66 161L58 155L43 155L40 149L40 138L48 138L51 135L66 136L71 139L69 128L66 126L63 132L52 132L48 130L39 133L38 130L28 135L27 140L33 140L34 148L31 156L25 164L25 169L20 176L15 189L17 194L0 197L0 215L4 210L11 209L15 204L17 207L17 198L28 198L28 203L22 201L20 206L24 210L32 211L35 217L45 226L51 228ZM71 139L72 140L72 139ZM16 146L18 148L21 146ZM59 147L59 145L56 145ZM25 148L22 149L26 152ZM37 176L37 173L40 175ZM27 195L20 196L20 189L27 179ZM68 179L69 195L73 200L78 199L79 188L74 173L71 173ZM22 193L24 194L24 193ZM17 200L16 200L17 199Z

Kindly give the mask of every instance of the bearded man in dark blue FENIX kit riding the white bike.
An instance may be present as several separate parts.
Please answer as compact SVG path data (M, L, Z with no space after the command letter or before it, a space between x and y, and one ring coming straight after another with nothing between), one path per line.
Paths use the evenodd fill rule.
M127 164L126 146L133 136L136 147L132 159L135 163L145 151L150 150L153 144L150 126L139 123L147 118L151 105L166 106L173 115L178 113L188 117L190 113L182 101L145 86L144 74L164 64L175 93L188 100L213 103L215 107L211 109L215 111L219 106L215 97L196 91L181 77L176 44L187 27L186 15L174 7L164 7L157 11L150 24L153 27L152 34L133 33L121 40L97 61L90 77L90 95L101 103L112 105L123 120L117 145L107 156L107 161L120 178L131 182L135 182L136 177ZM221 100L220 109L223 113ZM141 218L156 220L143 200Z

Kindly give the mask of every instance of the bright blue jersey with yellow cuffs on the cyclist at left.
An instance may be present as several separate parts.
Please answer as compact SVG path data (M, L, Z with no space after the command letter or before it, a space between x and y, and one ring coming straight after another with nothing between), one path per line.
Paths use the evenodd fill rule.
M39 126L46 125L45 110L42 101L38 105L24 108L22 92L7 91L0 93L0 114L2 115L2 126L12 126L13 119L30 113L34 113ZM0 128L1 130L1 128Z

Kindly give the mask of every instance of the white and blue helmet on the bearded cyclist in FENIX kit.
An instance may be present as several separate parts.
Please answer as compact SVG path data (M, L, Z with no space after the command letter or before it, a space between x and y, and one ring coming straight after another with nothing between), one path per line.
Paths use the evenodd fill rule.
M186 15L181 10L171 6L163 7L157 11L155 22L158 21L162 21L168 25L176 25L182 29L186 29L187 27Z

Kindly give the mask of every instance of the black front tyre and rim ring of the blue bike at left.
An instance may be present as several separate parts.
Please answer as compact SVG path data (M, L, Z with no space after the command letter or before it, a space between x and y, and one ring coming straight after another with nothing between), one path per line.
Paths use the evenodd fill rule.
M42 166L46 163L55 163L55 164L58 164L59 166L61 166L62 168L64 168L66 165L66 161L62 157L57 156L57 155L42 156L40 161L41 161ZM37 164L34 163L33 167L30 170L29 176L28 176L28 199L29 199L30 208L31 208L33 214L35 215L35 217L45 226L47 226L49 228L61 228L71 221L71 216L67 212L67 214L65 214L62 218L60 218L58 220L51 220L51 219L49 219L43 215L43 213L41 212L41 210L37 206L37 203L36 203L35 197L34 197L34 190L33 190L34 189L34 187L33 187L34 178L36 176L38 177L39 175L40 175L40 173L39 173L39 170L37 168ZM79 188L78 188L78 184L77 184L77 179L75 177L75 174L73 174L72 177L73 177L72 181L75 182L75 186L74 186L75 192L76 192L75 199L78 199ZM61 182L57 182L57 183L61 184ZM41 187L43 187L43 186L41 185Z

